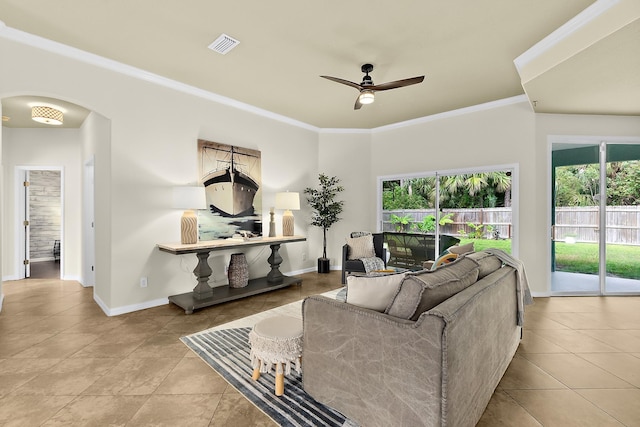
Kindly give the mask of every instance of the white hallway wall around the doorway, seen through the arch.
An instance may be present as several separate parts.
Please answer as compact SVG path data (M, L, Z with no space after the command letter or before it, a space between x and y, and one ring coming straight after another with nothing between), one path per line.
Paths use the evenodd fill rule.
M16 182L16 167L60 167L63 173L62 272L65 279L80 279L80 132L77 129L2 128L4 162L4 222L2 246L4 280L19 277L16 271L22 254L16 254L16 229L23 218L16 218L15 195L22 191ZM24 233L20 233L24 236ZM22 237L21 237L22 238ZM71 254L71 256L67 256Z

